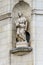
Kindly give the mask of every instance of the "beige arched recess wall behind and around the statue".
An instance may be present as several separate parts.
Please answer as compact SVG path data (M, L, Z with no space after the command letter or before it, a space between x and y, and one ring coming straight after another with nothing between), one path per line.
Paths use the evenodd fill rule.
M29 23L31 22L31 7L28 3L24 2L24 1L20 1L18 2L12 10L12 22L13 22L13 26L12 28L14 29L13 31L13 47L16 47L16 25L15 25L15 21L18 19L18 12L21 11L23 13L23 15L26 17L26 19L28 20L28 32L30 33L30 25Z

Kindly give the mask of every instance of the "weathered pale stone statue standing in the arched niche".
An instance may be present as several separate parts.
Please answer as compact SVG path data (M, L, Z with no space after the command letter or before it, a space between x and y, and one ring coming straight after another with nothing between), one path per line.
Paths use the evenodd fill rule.
M15 21L16 23L16 41L28 41L28 32L27 32L27 20L26 18L23 16L23 14L21 12L18 12L18 16L19 18L17 19L17 21ZM27 37L26 37L27 36Z

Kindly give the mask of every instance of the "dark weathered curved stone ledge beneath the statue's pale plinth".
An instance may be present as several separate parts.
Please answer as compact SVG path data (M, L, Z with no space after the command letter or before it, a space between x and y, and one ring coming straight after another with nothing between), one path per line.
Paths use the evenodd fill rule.
M17 47L17 48L13 48L12 50L10 50L10 53L18 55L18 56L22 56L31 51L32 51L32 47Z

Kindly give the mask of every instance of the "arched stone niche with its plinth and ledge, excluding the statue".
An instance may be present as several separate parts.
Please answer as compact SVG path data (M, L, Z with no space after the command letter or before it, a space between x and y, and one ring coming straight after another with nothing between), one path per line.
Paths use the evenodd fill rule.
M21 11L28 20L28 32L30 34L30 19L31 19L31 7L28 3L20 0L13 8L12 11L12 50L10 51L15 55L24 55L32 51L31 44L28 46L27 43L16 42L16 24L15 21L18 19L18 11ZM29 41L30 43L30 41Z

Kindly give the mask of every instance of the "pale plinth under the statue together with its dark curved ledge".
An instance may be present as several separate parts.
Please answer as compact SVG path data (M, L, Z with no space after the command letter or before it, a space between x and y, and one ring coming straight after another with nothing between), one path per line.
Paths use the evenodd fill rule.
M31 51L32 51L32 47L28 46L28 43L26 41L22 41L22 42L17 42L16 48L12 48L10 53L18 56L22 56L22 55L26 55Z

